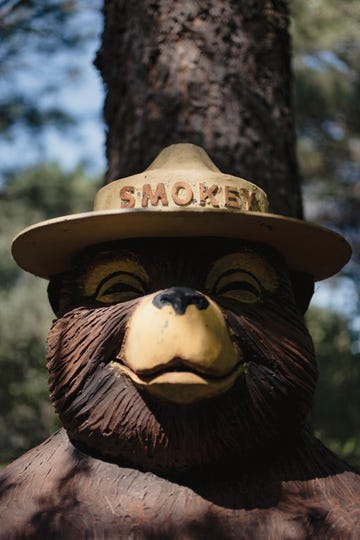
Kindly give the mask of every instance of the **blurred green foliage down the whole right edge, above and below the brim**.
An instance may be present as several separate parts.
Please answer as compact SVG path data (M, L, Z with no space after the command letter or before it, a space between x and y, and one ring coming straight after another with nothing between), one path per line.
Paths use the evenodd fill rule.
M360 3L291 0L290 5L305 214L337 227L352 244L345 273L357 289L348 306L355 318L360 298ZM315 308L308 320L320 367L315 430L360 468L360 358L354 352L359 349L353 323Z

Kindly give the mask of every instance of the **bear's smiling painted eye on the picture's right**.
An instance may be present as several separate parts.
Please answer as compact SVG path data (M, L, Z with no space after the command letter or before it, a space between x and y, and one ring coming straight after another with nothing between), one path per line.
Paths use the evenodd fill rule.
M218 278L213 287L213 293L217 296L225 296L251 304L261 298L261 291L259 280L245 270L225 272Z

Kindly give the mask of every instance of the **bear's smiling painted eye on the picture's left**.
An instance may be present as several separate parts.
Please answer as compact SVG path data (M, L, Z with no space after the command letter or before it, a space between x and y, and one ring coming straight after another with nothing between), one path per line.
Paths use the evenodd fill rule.
M146 284L140 276L131 272L113 272L98 284L94 297L98 302L112 304L126 302L146 294Z

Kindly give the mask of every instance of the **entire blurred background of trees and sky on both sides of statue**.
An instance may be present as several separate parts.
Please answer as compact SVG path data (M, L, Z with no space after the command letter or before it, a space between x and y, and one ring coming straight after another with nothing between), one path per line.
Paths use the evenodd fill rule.
M291 0L290 7L305 215L335 226L354 248L341 276L317 285L308 314L321 374L313 424L360 467L360 5ZM103 131L98 120L89 132L102 103L84 110L76 96L88 84L86 70L95 73L83 51L94 57L99 47L100 9L100 0L0 0L0 463L57 425L44 360L52 320L46 283L19 270L9 246L31 223L90 209L101 182L104 161L94 163L79 132ZM75 105L64 88L73 89ZM61 149L59 164L49 162L49 144Z

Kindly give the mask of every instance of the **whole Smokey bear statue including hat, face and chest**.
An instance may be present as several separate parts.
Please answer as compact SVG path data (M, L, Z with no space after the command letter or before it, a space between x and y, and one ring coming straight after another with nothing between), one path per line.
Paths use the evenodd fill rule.
M177 144L12 249L49 279L63 428L2 471L2 539L360 538L360 476L307 424L340 235Z

